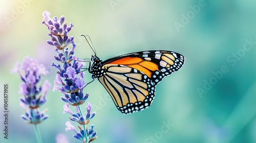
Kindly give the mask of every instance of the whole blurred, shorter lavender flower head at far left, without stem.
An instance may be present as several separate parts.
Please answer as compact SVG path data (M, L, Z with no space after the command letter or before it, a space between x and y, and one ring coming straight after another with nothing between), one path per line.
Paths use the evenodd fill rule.
M23 72L21 71L23 70ZM19 62L14 65L11 73L18 73L23 83L19 84L18 93L23 94L23 98L20 98L20 105L25 110L25 115L22 115L22 119L30 124L38 124L41 121L46 120L48 115L39 111L39 107L46 102L46 94L50 89L51 84L48 80L44 82L44 85L38 86L41 75L48 74L45 66L39 64L35 58L25 57L22 65ZM24 75L23 75L24 73ZM40 92L42 95L39 95Z

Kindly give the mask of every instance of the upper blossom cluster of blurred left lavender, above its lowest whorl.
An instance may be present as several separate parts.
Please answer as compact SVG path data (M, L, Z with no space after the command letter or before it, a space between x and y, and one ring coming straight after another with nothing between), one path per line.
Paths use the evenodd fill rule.
M23 70L20 71L20 70ZM46 80L44 85L38 86L41 75L46 75L48 71L46 67L40 64L35 58L25 57L22 66L18 63L14 65L11 73L18 73L23 83L19 84L18 93L23 94L20 102L27 105L30 109L39 108L46 102L46 94L50 89L51 84ZM23 75L24 73L25 75ZM43 91L42 96L39 93ZM24 119L24 118L23 118Z

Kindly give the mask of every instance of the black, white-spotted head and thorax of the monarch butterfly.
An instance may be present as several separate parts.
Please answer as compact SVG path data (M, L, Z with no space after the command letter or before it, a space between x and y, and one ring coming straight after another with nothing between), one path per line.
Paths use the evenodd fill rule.
M94 55L92 56L91 61L92 61L92 66L91 66L90 73L92 73L92 77L98 78L102 76L102 73L103 73L102 71L103 69L101 68L102 60L98 56Z

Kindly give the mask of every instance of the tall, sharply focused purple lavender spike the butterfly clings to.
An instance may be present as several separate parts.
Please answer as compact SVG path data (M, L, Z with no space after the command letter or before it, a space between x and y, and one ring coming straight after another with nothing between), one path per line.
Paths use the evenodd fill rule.
M68 36L68 32L70 32L73 25L70 23L68 27L64 16L61 16L58 20L57 17L51 18L50 12L47 11L44 11L42 15L44 16L42 23L44 23L50 31L48 35L51 37L51 40L48 40L47 43L56 47L55 52L57 52L57 55L54 59L62 64L62 66L60 64L52 64L52 66L58 69L53 91L59 90L59 92L65 95L61 97L61 100L66 102L63 106L63 113L71 114L72 117L69 117L70 120L79 123L83 127L82 129L78 126L80 131L77 131L70 122L67 122L66 126L68 127L66 131L73 130L76 133L73 135L75 138L83 140L83 142L86 143L91 142L97 138L97 132L93 130L93 125L88 131L86 125L95 116L95 112L91 113L91 103L87 104L87 113L85 114L82 114L80 107L80 105L88 99L89 94L83 93L83 88L86 87L87 84L84 81L84 72L81 71L81 69L85 65L85 62L81 62L75 57L76 44L74 37ZM72 43L71 50L68 49L70 43ZM73 63L71 63L72 61ZM75 106L75 113L69 108L70 105Z

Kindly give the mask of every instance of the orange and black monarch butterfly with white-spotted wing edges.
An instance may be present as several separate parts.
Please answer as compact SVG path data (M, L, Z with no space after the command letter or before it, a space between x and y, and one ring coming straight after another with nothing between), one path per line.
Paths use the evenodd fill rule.
M95 51L94 54L88 71L93 79L99 80L117 109L124 114L149 107L155 98L156 85L179 70L185 61L178 53L161 50L124 54L105 61Z

